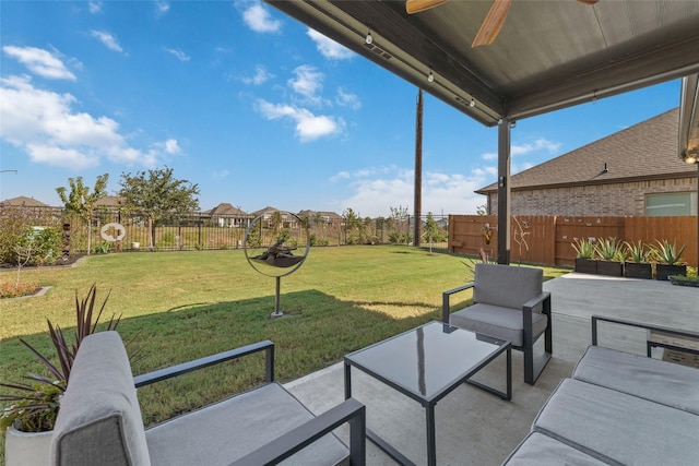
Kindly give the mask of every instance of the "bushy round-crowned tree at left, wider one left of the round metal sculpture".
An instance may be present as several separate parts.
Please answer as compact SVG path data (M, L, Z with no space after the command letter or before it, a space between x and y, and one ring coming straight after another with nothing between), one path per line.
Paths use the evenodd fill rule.
M169 167L140 171L135 175L121 174L119 195L125 207L141 213L151 231L151 249L155 247L155 226L168 214L199 210L199 186L188 180L178 180Z

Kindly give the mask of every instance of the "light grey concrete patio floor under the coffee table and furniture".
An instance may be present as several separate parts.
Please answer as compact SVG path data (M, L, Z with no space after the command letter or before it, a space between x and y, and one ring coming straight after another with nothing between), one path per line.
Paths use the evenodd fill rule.
M461 385L436 407L437 462L440 465L499 465L526 435L534 417L561 379L569 377L590 344L594 314L699 332L699 288L668 282L570 273L544 283L552 292L554 357L534 386L523 382L522 354L512 351L512 399L505 402L472 385ZM601 344L644 354L645 333L605 326ZM542 344L538 345L542 350ZM446 357L458 357L450 355ZM505 358L476 380L503 389ZM425 413L420 405L353 369L353 395L367 406L367 426L415 464L426 464ZM343 365L285 384L313 413L344 399ZM337 435L348 441L348 430ZM367 464L394 465L367 441Z

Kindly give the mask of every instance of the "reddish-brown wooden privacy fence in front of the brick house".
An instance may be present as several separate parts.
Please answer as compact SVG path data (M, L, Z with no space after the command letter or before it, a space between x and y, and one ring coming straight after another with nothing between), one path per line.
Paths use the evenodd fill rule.
M478 254L481 248L497 258L496 215L450 215L449 251ZM490 240L487 240L487 232ZM683 259L697 266L697 217L571 217L512 216L510 262L572 266L574 238L609 238L654 243L655 240L687 244Z

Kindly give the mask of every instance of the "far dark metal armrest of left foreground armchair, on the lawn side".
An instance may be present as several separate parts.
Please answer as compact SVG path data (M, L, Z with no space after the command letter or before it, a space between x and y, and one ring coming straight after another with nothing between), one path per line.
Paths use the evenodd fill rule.
M193 372L199 369L208 368L221 362L238 359L254 353L265 351L265 381L268 383L274 381L274 344L269 339L264 342L253 343L240 348L230 349L228 351L218 353L216 355L206 356L181 365L171 366L169 368L159 369L153 372L144 373L133 378L133 384L137 389L161 382L167 379Z

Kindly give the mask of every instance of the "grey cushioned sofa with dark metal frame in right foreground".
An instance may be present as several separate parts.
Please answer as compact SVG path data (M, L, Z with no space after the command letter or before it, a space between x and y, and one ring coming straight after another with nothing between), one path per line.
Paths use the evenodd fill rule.
M599 322L699 339L686 331L593 316L592 345L503 464L699 465L699 369L599 346Z

